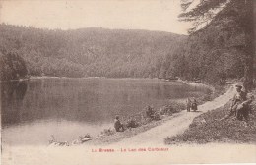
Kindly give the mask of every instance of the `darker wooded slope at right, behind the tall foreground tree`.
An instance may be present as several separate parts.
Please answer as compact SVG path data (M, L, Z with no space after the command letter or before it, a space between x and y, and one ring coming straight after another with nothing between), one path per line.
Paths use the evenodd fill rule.
M210 2L215 3L214 0ZM241 16L246 10L243 3L231 1L210 24L193 32L174 55L167 58L163 65L164 74L186 80L201 79L209 83L242 78L248 67L246 51L250 51L246 46L244 26L252 26L246 20L248 18ZM206 7L202 7L204 10L207 10ZM193 12L198 11L195 9Z

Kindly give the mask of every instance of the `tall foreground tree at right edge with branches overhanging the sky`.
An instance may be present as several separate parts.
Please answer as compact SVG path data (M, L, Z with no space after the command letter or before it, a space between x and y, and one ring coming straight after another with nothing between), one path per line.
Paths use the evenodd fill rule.
M245 56L244 58L244 87L251 90L253 86L253 62L255 53L254 25L253 25L254 0L201 0L192 7L195 0L181 0L183 13L179 15L181 21L192 22L193 27L188 30L190 34L202 30L213 21L224 20L219 27L228 32L232 28L239 28L244 35L242 45L231 45ZM221 11L221 12L220 12ZM237 32L237 31L235 31Z

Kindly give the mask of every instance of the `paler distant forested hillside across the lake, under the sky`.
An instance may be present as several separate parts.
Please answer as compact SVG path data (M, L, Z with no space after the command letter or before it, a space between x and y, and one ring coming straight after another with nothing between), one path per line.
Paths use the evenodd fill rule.
M184 35L147 30L49 30L0 25L0 50L16 52L33 76L160 77Z

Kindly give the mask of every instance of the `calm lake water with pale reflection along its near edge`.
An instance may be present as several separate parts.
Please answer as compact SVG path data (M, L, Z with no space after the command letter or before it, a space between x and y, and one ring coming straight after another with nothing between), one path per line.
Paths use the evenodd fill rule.
M199 97L208 88L154 79L43 78L1 83L2 142L48 144L113 128L115 115Z

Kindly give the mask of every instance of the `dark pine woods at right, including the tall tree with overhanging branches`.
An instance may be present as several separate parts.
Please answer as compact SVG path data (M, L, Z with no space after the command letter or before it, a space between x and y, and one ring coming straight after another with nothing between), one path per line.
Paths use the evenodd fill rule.
M183 46L167 58L166 73L218 84L242 78L250 90L256 71L255 2L205 0L192 9L194 0L181 2L179 18L192 22L193 27Z

